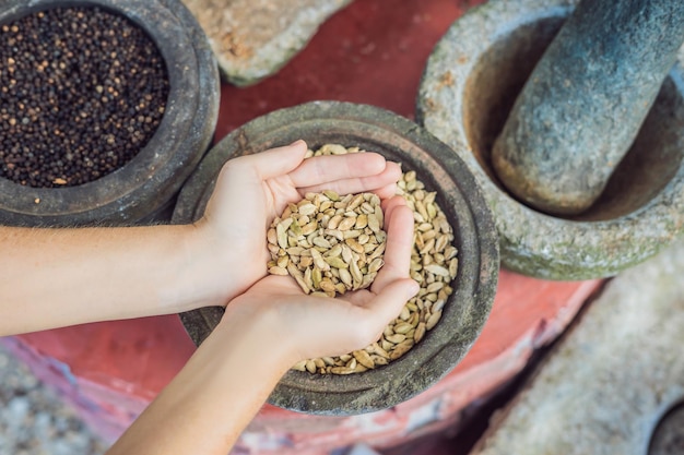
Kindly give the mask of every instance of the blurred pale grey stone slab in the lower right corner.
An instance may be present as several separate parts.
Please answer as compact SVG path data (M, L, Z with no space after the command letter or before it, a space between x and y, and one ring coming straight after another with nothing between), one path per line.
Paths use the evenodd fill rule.
M682 453L652 433L684 399L683 273L677 241L611 280L471 455Z

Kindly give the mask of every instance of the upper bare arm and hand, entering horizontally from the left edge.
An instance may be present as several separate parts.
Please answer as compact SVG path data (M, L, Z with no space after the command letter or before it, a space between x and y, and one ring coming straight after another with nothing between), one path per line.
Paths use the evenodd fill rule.
M0 335L225 307L266 276L266 235L256 232L287 203L323 188L387 197L401 173L377 154L305 153L298 142L231 160L194 225L0 227Z

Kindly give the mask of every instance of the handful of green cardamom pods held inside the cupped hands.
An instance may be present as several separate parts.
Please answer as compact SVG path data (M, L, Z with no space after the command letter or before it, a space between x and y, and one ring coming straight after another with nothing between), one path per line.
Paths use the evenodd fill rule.
M335 297L366 289L384 265L387 235L373 193L309 193L267 232L269 273L291 275L306 294Z

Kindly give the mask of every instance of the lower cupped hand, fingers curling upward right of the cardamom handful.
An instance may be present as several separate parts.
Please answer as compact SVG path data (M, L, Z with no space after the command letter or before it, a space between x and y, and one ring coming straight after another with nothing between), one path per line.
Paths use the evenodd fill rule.
M307 358L338 356L362 349L377 340L385 326L401 312L418 290L409 277L413 248L413 213L402 197L382 203L387 226L385 265L369 290L337 298L305 295L290 276L268 276L235 298L222 323L255 323L268 320L278 333L287 366Z

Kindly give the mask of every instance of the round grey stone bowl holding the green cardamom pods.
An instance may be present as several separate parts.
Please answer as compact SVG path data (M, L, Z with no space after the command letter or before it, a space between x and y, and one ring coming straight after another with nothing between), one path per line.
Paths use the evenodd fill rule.
M269 403L297 411L353 415L391 407L429 387L463 358L491 310L498 279L498 239L473 176L461 159L415 123L379 108L319 101L271 112L250 121L216 144L184 185L173 223L197 220L215 178L231 158L286 145L297 139L310 147L325 143L359 146L415 170L455 229L459 271L441 321L399 360L359 374L320 375L288 371ZM262 234L266 236L266 229ZM246 258L249 261L249 258ZM217 325L223 308L180 315L199 345Z

